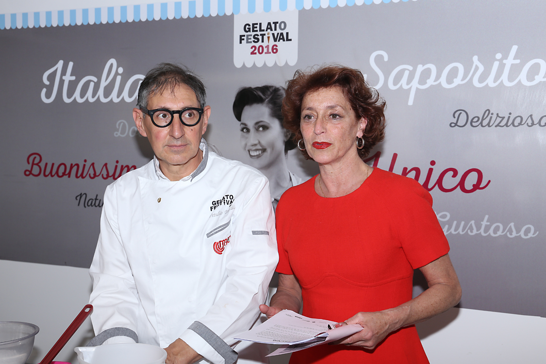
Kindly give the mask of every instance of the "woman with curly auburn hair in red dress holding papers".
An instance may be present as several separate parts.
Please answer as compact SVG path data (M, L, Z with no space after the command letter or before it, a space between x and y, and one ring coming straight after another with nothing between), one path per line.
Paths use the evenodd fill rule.
M260 310L360 324L339 344L290 363L428 363L414 324L456 305L461 288L449 244L420 184L363 159L383 140L385 103L359 70L296 71L285 127L320 174L278 202L277 293ZM413 270L429 288L412 299Z

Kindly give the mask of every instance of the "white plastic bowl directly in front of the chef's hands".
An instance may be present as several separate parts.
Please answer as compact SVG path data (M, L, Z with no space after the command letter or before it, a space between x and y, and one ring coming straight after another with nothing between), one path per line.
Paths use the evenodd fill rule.
M106 344L74 351L80 364L164 364L167 359L167 351L149 344Z

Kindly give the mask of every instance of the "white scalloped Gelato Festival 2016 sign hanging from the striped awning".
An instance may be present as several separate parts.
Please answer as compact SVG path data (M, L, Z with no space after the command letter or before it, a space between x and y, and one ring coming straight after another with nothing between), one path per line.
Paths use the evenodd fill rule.
M262 67L298 61L298 10L234 16L233 63Z

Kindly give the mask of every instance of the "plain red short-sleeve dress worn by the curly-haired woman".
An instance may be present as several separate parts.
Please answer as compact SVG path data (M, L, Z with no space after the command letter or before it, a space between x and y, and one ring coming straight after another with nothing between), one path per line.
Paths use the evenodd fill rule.
M411 300L413 270L449 252L430 194L411 178L375 168L354 192L322 198L315 178L288 189L276 211L277 272L298 278L302 313L344 321ZM373 350L320 345L290 358L290 364L428 362L413 325Z

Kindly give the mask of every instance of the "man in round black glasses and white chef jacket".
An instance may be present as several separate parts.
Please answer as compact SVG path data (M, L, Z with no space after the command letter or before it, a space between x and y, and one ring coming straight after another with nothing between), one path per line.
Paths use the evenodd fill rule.
M233 337L258 318L278 260L269 183L209 151L205 97L175 64L140 84L133 118L155 156L106 188L90 268L93 345L159 345L168 364L233 363Z

